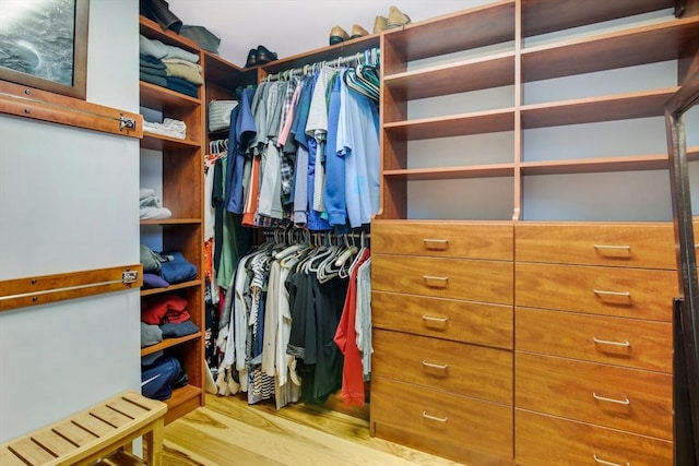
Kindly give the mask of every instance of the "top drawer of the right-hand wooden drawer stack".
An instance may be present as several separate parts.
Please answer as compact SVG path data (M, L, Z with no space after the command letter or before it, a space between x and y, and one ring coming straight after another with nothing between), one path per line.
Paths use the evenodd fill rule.
M672 223L516 226L517 261L676 268Z

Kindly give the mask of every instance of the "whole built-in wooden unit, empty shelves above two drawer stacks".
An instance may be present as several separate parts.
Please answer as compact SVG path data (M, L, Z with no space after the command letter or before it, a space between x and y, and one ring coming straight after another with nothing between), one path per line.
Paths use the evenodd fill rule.
M416 369L401 356L404 370L395 373L394 361L377 353L413 349L379 339L375 434L469 464L672 463L672 225L627 207L650 191L660 200L651 216L657 215L665 186L649 183L649 172L668 169L662 145L644 144L656 134L645 139L633 124L659 121L654 129L663 135L664 104L699 68L699 1L684 2L680 17L676 3L507 0L382 35L375 333L420 338L426 349L414 366L420 358L428 365ZM673 67L671 75L653 74ZM488 101L474 103L482 95ZM607 146L607 138L619 141ZM687 155L699 160L699 147ZM502 263L484 261L459 287L496 238L496 249L511 246L512 254ZM510 259L512 282L496 296L478 295L496 288L495 270ZM484 277L491 280L478 288ZM471 309L476 301L483 308ZM652 314L643 313L649 309ZM453 349L451 332L470 320L475 325L481 312L505 342L462 332L462 346ZM462 367L453 355L472 345L512 357L502 374L513 380L503 375L498 385L506 396L488 399L499 404L499 417L471 419L498 426L483 435L470 434L450 409L478 395L434 398L434 391L443 398L464 395L451 374L477 362ZM430 370L441 372L430 377ZM496 372L484 371L483 380ZM603 385L614 395L601 395ZM398 386L411 394L395 395L400 409L390 393Z

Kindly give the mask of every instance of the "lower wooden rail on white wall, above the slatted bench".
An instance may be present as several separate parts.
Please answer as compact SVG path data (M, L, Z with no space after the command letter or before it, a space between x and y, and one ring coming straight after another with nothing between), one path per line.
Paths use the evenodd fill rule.
M142 285L142 264L10 279L0 282L0 312Z

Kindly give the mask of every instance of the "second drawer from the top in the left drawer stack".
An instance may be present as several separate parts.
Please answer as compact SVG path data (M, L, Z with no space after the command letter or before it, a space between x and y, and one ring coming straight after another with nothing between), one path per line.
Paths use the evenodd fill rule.
M511 262L371 255L371 287L472 301L512 303Z

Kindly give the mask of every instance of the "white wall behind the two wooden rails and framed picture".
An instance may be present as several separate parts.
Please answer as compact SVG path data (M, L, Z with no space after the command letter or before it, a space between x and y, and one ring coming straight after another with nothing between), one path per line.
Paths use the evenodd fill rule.
M138 2L91 2L87 100L138 111ZM139 262L139 142L0 115L0 280ZM140 390L139 290L0 313L0 441Z

